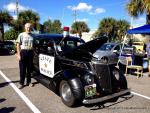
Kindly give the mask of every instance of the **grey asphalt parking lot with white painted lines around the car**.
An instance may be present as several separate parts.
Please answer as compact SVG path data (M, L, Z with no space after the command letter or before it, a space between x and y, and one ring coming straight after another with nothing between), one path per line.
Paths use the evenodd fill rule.
M18 89L18 61L15 55L0 56L0 113L150 113L150 77L127 76L130 98L98 106L69 108L51 90L32 79L33 87Z

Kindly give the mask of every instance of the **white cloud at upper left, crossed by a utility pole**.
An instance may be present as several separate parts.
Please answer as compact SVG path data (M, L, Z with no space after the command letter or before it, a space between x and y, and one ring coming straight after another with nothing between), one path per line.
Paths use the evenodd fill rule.
M4 5L4 9L8 10L9 12L14 12L16 11L16 3L9 3L7 5ZM18 4L18 10L19 12L24 10L29 10L29 7L24 7Z

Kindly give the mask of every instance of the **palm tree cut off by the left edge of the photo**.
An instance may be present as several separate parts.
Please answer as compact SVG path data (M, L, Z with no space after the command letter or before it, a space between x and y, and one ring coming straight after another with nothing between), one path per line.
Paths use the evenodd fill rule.
M4 24L10 24L12 17L7 11L0 10L0 32L2 33L2 41L4 41Z

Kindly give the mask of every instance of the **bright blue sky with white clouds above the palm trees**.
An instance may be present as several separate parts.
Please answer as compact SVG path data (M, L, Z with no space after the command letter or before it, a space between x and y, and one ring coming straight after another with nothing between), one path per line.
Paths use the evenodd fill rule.
M19 11L32 10L39 14L40 23L59 19L62 26L71 27L76 21L84 21L90 30L96 30L103 18L127 20L133 27L145 24L145 15L131 18L126 10L128 0L0 0L0 9L16 18L16 1Z

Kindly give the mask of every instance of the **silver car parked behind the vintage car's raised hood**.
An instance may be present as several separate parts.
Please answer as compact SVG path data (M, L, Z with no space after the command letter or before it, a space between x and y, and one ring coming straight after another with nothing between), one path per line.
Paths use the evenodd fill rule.
M118 62L121 47L121 43L105 43L93 54L93 56L102 63L115 64Z

